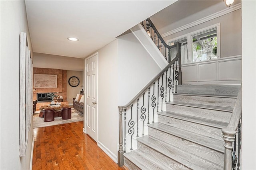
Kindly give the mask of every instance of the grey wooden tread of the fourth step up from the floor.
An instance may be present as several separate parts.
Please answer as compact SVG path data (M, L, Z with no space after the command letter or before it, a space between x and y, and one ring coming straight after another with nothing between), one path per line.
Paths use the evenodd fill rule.
M228 126L228 123L226 122L216 121L216 120L211 120L211 119L206 119L206 118L196 117L191 115L183 115L183 114L174 113L171 111L162 111L162 112L158 112L157 114L167 116L167 117L173 117L173 118L184 120L184 121L190 121L190 122L198 123L201 125L207 125L210 127L216 127L219 129L222 129Z

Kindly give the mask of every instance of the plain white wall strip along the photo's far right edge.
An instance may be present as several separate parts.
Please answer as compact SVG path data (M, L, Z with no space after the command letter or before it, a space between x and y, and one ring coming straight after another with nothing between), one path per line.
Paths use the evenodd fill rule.
M256 1L242 0L242 170L256 169Z

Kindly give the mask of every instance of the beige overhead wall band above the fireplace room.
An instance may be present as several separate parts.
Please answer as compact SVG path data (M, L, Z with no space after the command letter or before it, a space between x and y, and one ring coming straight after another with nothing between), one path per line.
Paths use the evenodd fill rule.
M33 67L83 71L84 59L34 53Z

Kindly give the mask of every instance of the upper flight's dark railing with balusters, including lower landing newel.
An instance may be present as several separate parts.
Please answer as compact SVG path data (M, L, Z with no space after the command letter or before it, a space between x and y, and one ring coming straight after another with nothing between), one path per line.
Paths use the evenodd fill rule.
M146 27L145 27L144 23L146 23ZM166 42L164 41L164 39L162 38L162 36L158 32L158 30L156 29L155 25L150 20L150 18L146 19L145 21L142 21L141 24L144 27L144 29L146 30L146 32L148 33L148 35L150 36L150 38L152 39L152 41L158 47L158 49L160 50L160 52L162 53L164 58L168 61L168 63L170 63L172 61L171 49L174 48L176 45L175 44L174 45L166 44ZM153 29L154 33L153 33L152 29ZM179 67L178 84L182 84L181 59L179 59L178 67Z

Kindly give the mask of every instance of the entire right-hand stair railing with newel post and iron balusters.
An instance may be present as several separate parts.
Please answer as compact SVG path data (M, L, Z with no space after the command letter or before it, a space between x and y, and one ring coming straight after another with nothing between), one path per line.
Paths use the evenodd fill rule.
M241 166L242 84L228 126L222 129L225 141L224 170L239 170ZM236 150L237 149L237 150Z

